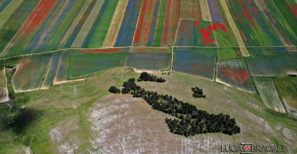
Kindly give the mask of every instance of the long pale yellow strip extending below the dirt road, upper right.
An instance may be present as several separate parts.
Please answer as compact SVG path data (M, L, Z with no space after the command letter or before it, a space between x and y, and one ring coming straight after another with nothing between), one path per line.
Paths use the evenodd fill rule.
M234 20L233 20L233 18L231 16L231 13L230 13L230 11L228 9L226 1L225 0L220 0L220 2L221 2L221 5L223 7L223 10L225 12L225 15L227 17L227 20L228 20L228 22L230 24L230 27L231 27L231 29L232 29L232 31L234 33L234 36L235 36L235 38L237 40L237 43L238 43L238 45L240 47L240 51L241 51L242 56L245 56L245 57L250 56L249 52L247 51L247 48L245 48L245 45L244 45L244 42L243 42L243 40L241 38L239 30L237 29L236 24L235 24L235 22L234 22Z

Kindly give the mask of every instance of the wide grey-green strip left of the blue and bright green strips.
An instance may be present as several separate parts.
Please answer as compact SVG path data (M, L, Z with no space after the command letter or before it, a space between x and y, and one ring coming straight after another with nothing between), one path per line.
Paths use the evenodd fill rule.
M86 22L81 27L81 30L78 33L77 37L75 38L74 42L72 43L71 47L81 47L83 45L83 41L86 39L89 31L91 30L92 25L93 25L94 21L96 20L96 17L98 16L98 14L100 12L103 3L104 3L104 1L96 2L89 17L87 18Z

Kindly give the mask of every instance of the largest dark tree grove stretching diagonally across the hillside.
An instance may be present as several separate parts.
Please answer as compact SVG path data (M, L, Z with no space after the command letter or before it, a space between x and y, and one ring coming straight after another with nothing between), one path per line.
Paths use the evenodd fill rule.
M206 111L198 110L192 104L179 101L171 95L159 95L157 92L146 91L135 84L134 78L124 82L123 86L122 93L130 93L133 97L142 97L152 108L176 116L178 119L165 119L170 132L186 137L212 132L222 132L229 135L240 133L240 128L235 119L230 119L228 114L209 114Z

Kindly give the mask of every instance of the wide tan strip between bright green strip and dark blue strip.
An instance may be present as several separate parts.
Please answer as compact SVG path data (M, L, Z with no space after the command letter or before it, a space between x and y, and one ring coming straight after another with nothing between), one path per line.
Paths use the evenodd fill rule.
M118 2L102 47L113 47L114 43L116 43L116 38L124 18L127 4L128 0L121 0Z

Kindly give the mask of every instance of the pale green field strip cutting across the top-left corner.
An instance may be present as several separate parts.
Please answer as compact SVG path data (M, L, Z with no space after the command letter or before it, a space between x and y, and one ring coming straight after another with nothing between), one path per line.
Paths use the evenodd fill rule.
M7 22L9 17L15 12L16 9L23 3L24 0L12 0L5 9L0 13L0 29Z

